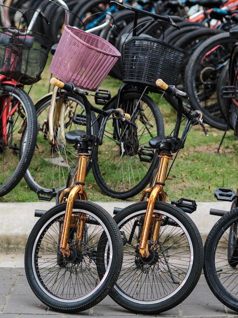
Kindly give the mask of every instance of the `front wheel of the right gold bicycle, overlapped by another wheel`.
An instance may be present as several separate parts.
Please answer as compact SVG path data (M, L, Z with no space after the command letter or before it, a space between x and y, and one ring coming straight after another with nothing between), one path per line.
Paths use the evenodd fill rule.
M123 237L124 258L110 296L135 313L157 314L180 304L192 292L203 269L204 249L199 231L182 210L156 202L148 237L150 256L142 258L138 244L146 208L147 202L139 202L114 216ZM158 220L155 240L152 234Z

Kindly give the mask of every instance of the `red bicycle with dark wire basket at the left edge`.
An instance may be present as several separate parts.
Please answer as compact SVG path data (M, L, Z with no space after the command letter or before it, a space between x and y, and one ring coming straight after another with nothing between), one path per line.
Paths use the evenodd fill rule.
M7 26L0 2L0 196L8 194L30 164L36 141L36 113L24 85L41 79L51 39L32 31L41 11L29 24L20 13L17 26ZM9 9L9 7L7 7ZM14 11L13 8L11 8ZM16 10L14 11L16 14ZM17 15L16 15L17 16Z

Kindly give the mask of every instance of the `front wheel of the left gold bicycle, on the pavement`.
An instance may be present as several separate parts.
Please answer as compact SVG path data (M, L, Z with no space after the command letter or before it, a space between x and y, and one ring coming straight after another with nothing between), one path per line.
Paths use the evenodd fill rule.
M77 312L108 294L121 270L123 245L108 212L92 202L76 201L68 238L70 257L63 257L59 241L65 208L66 203L59 204L36 222L26 244L25 271L32 291L44 304ZM104 271L99 271L102 267Z

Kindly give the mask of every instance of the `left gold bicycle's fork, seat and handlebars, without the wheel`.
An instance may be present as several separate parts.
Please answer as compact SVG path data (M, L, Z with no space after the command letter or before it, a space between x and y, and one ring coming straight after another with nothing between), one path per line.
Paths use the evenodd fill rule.
M104 123L108 120L109 116L111 114L116 114L118 118L121 118L122 120L126 121L127 124L134 125L129 121L128 114L122 113L119 109L110 109L108 111L104 111L102 109L94 107L87 99L86 95L90 95L85 90L80 88L74 88L73 84L64 84L63 82L52 78L51 84L57 85L58 87L62 87L65 90L68 91L75 91L78 93L82 99L83 103L85 105L85 111L86 111L86 120L87 120L87 132L81 132L80 135L74 135L72 132L71 138L69 142L77 145L77 160L76 160L76 167L75 172L73 174L72 180L70 182L70 185L62 190L60 196L59 196L59 203L62 203L64 201L67 202L66 209L65 209L65 217L64 222L62 225L62 234L60 239L60 250L64 257L70 256L70 250L68 245L68 237L70 233L70 226L72 224L73 219L73 204L76 199L80 200L87 200L87 193L84 188L85 185L85 177L86 177L86 168L88 161L91 157L91 154L89 153L89 147L93 147L94 145L100 145L103 131L104 131ZM66 86L66 87L65 87ZM101 129L99 130L98 136L92 136L91 135L91 111L95 111L98 114L103 115L104 120L101 123ZM68 133L70 136L70 132ZM119 134L118 134L119 135ZM67 138L67 135L66 135ZM85 216L84 213L82 213L82 217L79 218L78 221L78 232L77 236L78 238L83 237L83 232L85 231L84 228L84 222L85 222Z

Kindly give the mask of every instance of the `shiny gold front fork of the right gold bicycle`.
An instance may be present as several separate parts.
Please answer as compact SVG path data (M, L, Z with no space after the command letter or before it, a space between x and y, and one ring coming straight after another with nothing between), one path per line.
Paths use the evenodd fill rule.
M164 153L158 155L158 157L160 157L160 165L154 177L153 184L150 188L144 190L140 199L140 201L142 201L145 198L145 195L150 193L139 244L139 252L143 258L149 257L148 236L150 229L153 228L153 233L151 236L152 242L157 240L158 234L160 233L161 217L154 218L153 215L155 202L159 195L161 195L163 201L167 200L167 195L164 192L164 185L169 161L172 160L173 155Z

